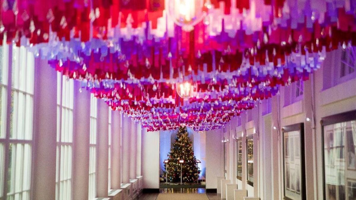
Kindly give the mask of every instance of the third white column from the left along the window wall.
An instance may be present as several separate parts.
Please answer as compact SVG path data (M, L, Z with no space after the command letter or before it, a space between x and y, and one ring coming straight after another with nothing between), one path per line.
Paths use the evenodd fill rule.
M109 166L109 108L103 99L98 99L98 150L96 160L96 196L108 197Z

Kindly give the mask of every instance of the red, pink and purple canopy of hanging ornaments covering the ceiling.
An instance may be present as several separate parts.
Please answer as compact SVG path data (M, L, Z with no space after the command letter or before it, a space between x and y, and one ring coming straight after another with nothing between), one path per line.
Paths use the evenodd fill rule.
M326 52L356 46L356 0L2 0L26 46L149 131L220 128Z

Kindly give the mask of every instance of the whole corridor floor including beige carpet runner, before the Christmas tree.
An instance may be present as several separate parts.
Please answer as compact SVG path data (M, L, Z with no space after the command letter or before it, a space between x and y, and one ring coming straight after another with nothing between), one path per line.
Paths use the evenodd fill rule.
M206 193L204 188L164 188L159 193L142 194L139 200L220 200L220 194Z

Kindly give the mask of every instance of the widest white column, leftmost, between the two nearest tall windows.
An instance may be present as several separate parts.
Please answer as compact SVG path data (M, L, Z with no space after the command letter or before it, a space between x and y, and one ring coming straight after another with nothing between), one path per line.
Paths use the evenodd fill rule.
M10 47L12 48L12 47ZM57 72L46 60L35 60L33 199L56 195Z

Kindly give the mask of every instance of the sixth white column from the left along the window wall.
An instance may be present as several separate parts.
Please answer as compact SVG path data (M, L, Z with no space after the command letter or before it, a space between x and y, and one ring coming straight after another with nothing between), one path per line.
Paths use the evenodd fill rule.
M136 123L130 119L130 179L136 179L137 131Z

